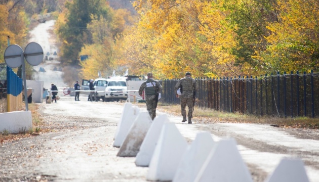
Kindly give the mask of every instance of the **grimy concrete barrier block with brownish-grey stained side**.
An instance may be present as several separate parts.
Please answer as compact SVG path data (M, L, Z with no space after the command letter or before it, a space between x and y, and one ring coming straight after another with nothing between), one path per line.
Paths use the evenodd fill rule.
M116 156L135 157L140 150L141 144L151 123L152 118L148 111L140 112Z

